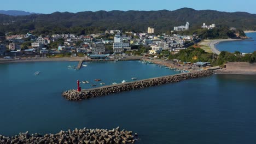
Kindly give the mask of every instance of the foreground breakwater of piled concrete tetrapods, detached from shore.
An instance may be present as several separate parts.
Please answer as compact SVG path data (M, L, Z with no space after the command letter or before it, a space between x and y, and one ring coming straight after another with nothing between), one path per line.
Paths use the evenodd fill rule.
M57 134L28 134L20 133L12 137L0 135L0 143L86 143L86 144L107 144L107 143L135 143L137 134L132 131L119 130L118 128L107 129L74 129L73 131L60 131Z

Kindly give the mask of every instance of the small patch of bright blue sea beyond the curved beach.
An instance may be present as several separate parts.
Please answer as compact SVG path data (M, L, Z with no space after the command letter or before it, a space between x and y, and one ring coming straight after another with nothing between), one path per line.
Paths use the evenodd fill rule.
M241 41L223 41L216 45L216 47L219 51L240 51L242 53L251 53L256 51L256 33L247 33L246 35L251 39Z

